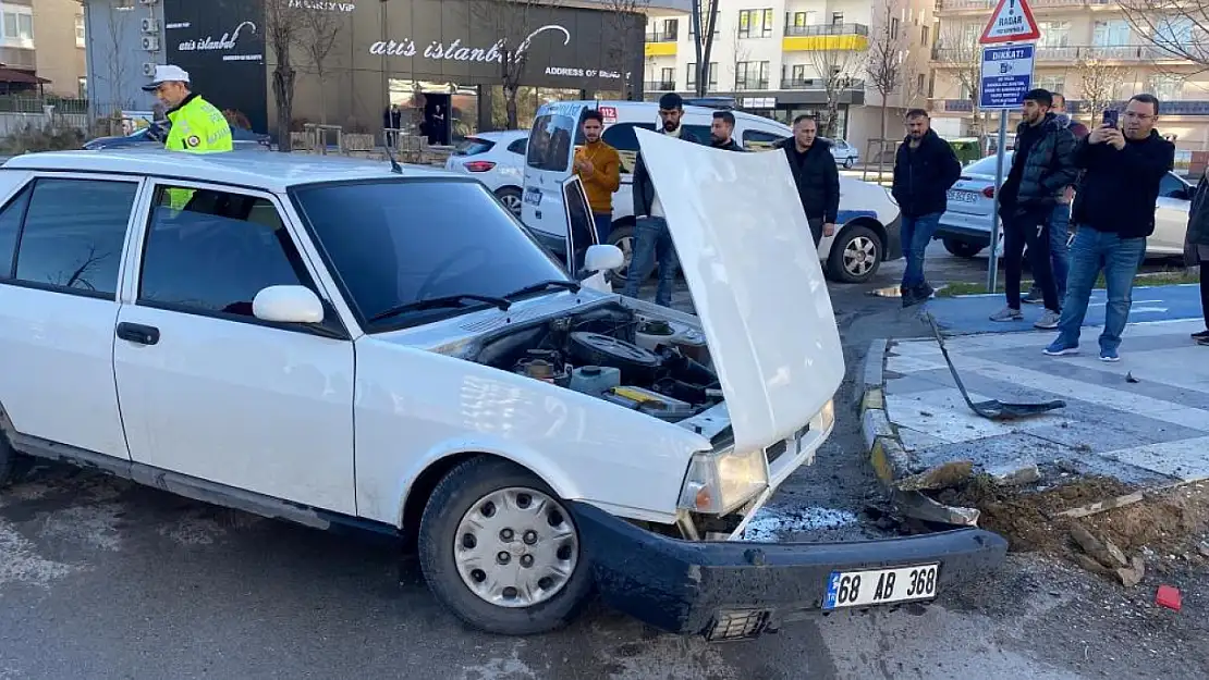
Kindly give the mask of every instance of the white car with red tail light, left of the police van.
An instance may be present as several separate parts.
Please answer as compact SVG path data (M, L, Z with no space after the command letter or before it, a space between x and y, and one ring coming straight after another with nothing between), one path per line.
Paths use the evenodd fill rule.
M445 162L445 169L465 173L481 181L504 208L520 216L526 144L528 130L475 133L458 143Z

